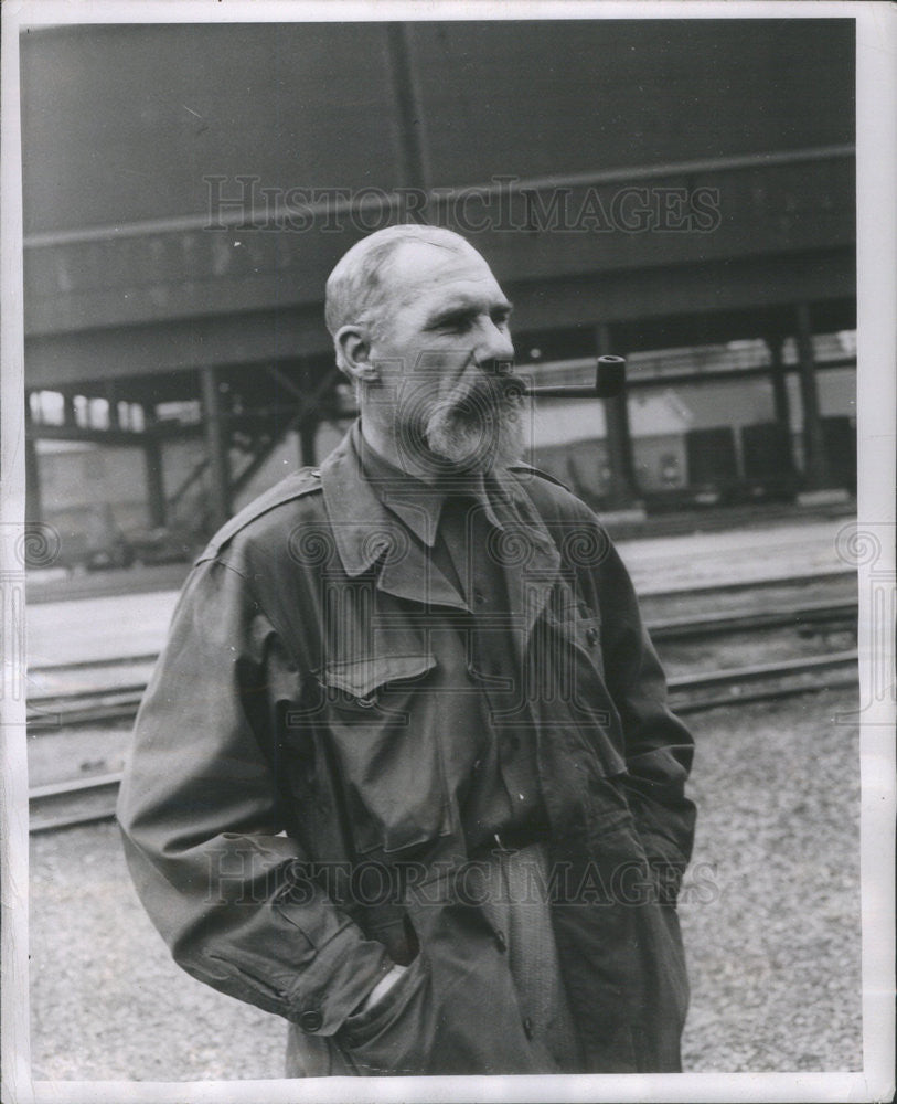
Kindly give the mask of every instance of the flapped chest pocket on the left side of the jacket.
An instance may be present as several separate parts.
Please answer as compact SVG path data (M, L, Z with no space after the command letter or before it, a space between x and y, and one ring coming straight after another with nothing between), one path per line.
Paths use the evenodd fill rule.
M431 655L370 656L318 672L356 850L401 851L451 828Z

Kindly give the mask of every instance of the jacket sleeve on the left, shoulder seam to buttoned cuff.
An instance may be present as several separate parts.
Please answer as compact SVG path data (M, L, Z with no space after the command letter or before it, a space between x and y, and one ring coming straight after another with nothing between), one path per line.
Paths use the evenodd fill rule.
M191 975L332 1034L392 966L284 835L270 659L244 576L197 565L138 714L118 804L137 892Z

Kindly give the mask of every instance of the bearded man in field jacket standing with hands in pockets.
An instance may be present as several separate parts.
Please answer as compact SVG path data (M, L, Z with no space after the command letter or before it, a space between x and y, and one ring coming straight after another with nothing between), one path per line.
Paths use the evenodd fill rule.
M346 253L360 420L213 538L137 721L138 892L290 1076L680 1069L692 740L597 518L517 463L510 315L448 231Z

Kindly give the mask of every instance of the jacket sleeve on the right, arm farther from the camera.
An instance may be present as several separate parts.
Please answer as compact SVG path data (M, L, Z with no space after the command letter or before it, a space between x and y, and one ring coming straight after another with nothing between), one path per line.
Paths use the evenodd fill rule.
M694 741L669 709L666 679L632 581L609 540L599 591L606 682L626 737L629 804L661 890L674 900L694 840L695 807L685 796Z

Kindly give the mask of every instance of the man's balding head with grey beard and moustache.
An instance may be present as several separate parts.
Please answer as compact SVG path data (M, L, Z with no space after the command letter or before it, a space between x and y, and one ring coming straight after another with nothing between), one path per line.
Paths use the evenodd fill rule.
M327 320L367 443L425 479L519 456L511 309L451 231L392 226L353 246L328 280Z

